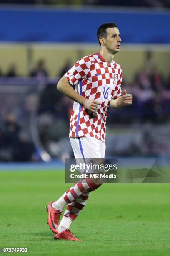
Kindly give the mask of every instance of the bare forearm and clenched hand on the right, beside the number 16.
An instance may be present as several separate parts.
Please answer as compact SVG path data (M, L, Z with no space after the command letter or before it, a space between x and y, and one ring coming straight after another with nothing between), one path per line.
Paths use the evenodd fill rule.
M123 95L119 96L117 99L110 100L110 106L112 108L123 108L125 106L132 105L133 97L131 94L126 92L126 89L123 90Z

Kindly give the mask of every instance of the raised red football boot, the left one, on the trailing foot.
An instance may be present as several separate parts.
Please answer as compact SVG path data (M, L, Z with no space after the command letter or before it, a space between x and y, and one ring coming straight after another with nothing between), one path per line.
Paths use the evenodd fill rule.
M53 201L55 202L55 201ZM52 232L54 232L55 234L57 234L58 232L58 223L59 223L59 220L60 220L60 216L62 215L60 212L60 210L55 210L53 207L52 207L52 204L53 202L50 202L46 209L47 209L47 212L48 212L48 219L47 219L47 223L48 225L50 226L50 229L52 230Z

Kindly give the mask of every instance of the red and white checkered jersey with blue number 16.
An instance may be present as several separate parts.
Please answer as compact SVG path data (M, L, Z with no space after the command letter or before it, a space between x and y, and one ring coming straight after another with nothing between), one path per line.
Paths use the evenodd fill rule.
M80 95L101 103L96 115L74 101L69 137L88 136L105 141L110 100L121 95L122 70L120 65L115 61L107 64L98 52L77 61L65 77Z

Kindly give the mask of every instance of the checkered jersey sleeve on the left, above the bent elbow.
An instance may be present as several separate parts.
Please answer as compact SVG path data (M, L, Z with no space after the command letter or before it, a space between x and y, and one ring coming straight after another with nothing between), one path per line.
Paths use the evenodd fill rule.
M68 79L69 83L74 86L86 77L89 71L90 60L88 57L78 60L74 66L65 73L65 77Z

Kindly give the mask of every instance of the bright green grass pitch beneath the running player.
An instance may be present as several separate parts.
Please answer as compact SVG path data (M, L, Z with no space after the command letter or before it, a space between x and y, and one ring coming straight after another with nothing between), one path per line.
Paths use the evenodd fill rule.
M29 255L170 255L170 184L103 184L70 228L81 242L54 240L47 225L45 206L68 187L62 171L0 172L0 247L28 247Z

